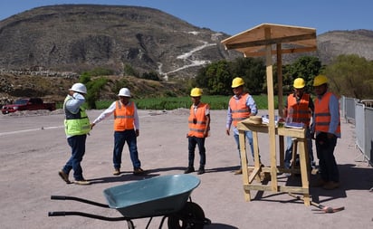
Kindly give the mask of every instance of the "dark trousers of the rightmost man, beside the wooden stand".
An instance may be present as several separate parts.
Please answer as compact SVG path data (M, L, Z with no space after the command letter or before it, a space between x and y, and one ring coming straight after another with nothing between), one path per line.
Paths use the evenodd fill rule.
M326 135L326 133L321 133ZM324 181L340 182L340 172L334 157L337 137L316 138L316 152L319 158L320 177Z

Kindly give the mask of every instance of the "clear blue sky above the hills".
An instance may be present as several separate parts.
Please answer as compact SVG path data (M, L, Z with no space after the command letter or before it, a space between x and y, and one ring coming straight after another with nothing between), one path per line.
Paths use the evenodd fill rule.
M172 14L189 24L230 35L263 23L332 30L373 30L373 1L368 0L2 0L0 20L44 5L139 5Z

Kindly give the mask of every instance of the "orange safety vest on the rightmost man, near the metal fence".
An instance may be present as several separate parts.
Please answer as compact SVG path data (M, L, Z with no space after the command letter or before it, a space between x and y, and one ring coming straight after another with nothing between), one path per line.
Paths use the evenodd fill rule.
M315 130L320 132L328 132L330 125L330 110L329 110L329 100L331 92L326 92L322 100L316 98L315 100ZM338 128L336 133L340 133L340 122L338 123Z

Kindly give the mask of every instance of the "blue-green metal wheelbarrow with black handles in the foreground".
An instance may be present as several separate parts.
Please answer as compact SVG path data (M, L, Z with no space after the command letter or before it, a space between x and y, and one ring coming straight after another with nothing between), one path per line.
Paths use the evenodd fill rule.
M108 205L74 196L51 196L53 200L74 200L89 205L117 209L121 217L106 217L83 212L49 212L49 216L80 215L105 221L127 221L134 229L134 219L162 216L159 229L165 219L169 229L201 229L211 221L203 209L192 202L192 191L199 186L200 179L192 175L167 175L113 186L103 191Z

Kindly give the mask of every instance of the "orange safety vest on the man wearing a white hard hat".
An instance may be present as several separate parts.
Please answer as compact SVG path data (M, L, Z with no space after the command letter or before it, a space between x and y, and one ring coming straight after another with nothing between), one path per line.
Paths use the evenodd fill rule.
M132 101L123 106L120 100L116 102L114 110L114 130L123 131L126 129L134 129L134 114L135 106Z

